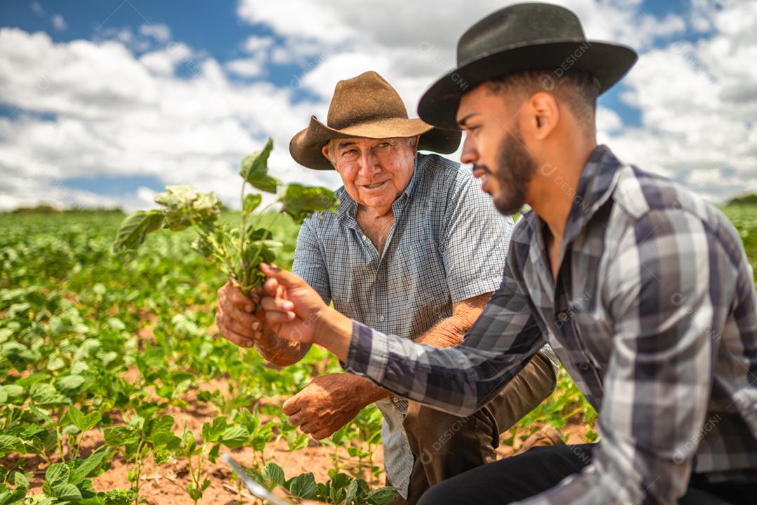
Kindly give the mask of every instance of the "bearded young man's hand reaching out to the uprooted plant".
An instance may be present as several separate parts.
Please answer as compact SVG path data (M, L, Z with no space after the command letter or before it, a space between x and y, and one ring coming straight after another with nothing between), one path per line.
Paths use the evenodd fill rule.
M287 340L313 342L316 320L329 308L321 296L294 273L266 263L260 270L269 277L263 284L260 304L273 331Z

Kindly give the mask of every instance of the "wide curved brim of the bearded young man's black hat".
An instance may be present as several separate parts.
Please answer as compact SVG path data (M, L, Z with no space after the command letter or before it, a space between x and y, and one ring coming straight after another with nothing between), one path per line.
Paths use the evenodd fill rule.
M529 70L551 71L552 83L572 70L584 70L597 78L602 94L631 70L637 58L636 51L625 45L587 40L530 43L497 51L438 79L421 97L418 115L438 128L459 129L457 107L466 92L490 79ZM549 86L547 79L545 90Z

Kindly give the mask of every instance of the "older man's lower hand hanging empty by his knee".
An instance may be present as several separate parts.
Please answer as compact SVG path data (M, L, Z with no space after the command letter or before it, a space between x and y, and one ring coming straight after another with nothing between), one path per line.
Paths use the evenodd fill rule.
M316 440L328 438L374 401L360 394L360 381L350 373L316 377L285 401L282 410L292 426L299 426Z

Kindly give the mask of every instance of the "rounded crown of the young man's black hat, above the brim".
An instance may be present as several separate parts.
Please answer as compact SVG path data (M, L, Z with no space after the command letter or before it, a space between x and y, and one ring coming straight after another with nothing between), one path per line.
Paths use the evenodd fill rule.
M585 41L578 17L564 7L528 3L511 5L489 14L471 26L457 44L462 67L484 55L534 42Z

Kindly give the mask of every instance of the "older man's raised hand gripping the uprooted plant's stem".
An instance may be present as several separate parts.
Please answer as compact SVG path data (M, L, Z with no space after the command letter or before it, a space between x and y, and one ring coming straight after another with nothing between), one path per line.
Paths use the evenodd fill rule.
M263 323L254 315L258 302L257 295L246 297L231 281L218 290L216 326L223 338L243 348L251 348L260 339Z

